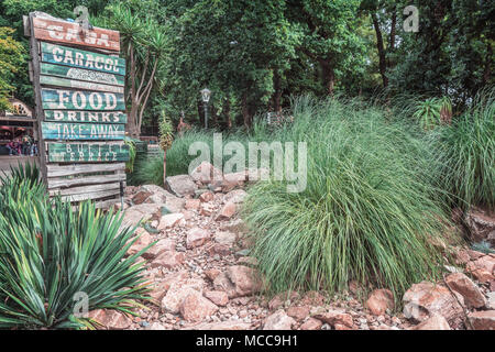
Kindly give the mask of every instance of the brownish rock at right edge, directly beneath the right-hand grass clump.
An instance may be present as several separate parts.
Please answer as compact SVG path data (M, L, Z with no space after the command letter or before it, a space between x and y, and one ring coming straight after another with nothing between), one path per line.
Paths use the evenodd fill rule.
M495 212L473 207L468 211L464 223L472 242L486 241L495 246Z

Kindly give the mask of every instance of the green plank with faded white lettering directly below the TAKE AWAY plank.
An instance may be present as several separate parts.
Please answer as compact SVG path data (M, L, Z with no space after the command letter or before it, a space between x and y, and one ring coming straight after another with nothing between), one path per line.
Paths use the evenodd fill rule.
M101 143L48 143L48 162L127 162L129 146Z

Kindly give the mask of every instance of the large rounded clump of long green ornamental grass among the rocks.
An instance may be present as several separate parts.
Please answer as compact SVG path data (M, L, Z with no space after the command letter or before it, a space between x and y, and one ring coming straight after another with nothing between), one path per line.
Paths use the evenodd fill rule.
M307 143L306 189L257 183L243 209L271 289L339 292L356 279L400 294L438 277L430 239L446 208L418 128L352 100L301 98L294 117L272 140Z

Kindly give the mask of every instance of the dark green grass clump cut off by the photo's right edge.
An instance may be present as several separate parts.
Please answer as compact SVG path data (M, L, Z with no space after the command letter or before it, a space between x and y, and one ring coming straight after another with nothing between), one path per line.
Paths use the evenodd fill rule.
M485 91L451 125L435 134L442 187L469 205L495 207L495 94Z

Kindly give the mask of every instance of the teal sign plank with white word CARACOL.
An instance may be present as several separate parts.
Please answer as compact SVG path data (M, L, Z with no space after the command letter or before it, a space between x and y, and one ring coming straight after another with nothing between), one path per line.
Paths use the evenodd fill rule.
M125 59L120 57L44 42L41 43L41 51L44 63L125 75Z

